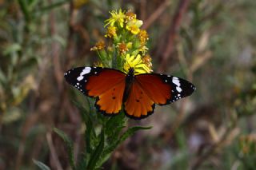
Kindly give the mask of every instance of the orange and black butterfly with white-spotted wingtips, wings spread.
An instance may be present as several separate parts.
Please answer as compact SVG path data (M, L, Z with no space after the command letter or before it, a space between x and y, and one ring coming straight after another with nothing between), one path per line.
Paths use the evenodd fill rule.
M167 105L190 96L195 86L189 81L158 73L135 75L102 67L78 67L64 73L66 81L88 97L96 98L95 107L106 116L124 113L142 119L154 113L155 104Z

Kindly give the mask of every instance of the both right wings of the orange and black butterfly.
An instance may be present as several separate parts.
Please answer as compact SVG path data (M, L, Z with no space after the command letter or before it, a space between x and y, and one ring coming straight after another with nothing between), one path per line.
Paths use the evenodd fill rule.
M154 104L167 105L190 96L195 87L189 81L158 73L139 74L130 85L125 101L128 117L142 119L154 113Z

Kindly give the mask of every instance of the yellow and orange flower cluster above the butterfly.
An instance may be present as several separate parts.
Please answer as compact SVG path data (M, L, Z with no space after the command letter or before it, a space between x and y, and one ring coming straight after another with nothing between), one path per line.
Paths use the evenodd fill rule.
M150 73L152 64L147 54L146 42L149 37L146 30L141 30L142 20L130 10L113 10L106 19L105 38L110 40L106 46L100 41L91 48L97 51L101 59L97 65L120 69L128 73L131 67L134 73Z

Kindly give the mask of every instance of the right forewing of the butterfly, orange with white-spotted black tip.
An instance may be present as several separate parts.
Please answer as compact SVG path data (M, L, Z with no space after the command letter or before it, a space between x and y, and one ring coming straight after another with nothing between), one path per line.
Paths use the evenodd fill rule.
M195 87L189 81L165 74L146 73L135 76L146 94L158 105L167 105L190 96Z

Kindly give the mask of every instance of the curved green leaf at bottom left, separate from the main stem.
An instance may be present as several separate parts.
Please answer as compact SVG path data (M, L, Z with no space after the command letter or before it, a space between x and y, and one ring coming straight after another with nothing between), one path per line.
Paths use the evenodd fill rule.
M73 149L72 140L70 139L69 136L66 135L65 132L63 132L62 130L60 130L58 128L54 128L54 132L56 132L58 134L58 136L60 136L62 138L62 140L64 140L64 142L66 144L68 156L69 156L70 166L73 169L76 169L75 164L74 164L74 152L73 152L74 149Z

